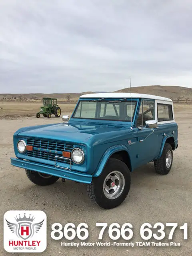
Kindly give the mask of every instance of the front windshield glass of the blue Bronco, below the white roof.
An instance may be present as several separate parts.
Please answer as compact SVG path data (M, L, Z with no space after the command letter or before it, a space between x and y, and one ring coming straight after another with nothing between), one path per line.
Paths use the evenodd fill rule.
M72 118L115 120L131 122L136 101L132 100L81 100Z

